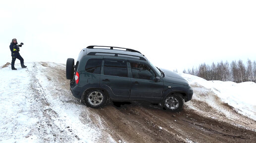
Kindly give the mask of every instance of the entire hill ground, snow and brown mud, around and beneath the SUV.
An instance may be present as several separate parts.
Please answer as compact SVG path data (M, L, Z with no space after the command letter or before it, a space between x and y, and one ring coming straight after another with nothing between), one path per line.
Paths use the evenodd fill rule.
M16 64L17 71L12 71L9 64L0 68L3 143L256 140L253 82L206 81L181 73L192 85L194 95L180 113L139 103L93 109L72 96L64 64L25 65L27 69Z

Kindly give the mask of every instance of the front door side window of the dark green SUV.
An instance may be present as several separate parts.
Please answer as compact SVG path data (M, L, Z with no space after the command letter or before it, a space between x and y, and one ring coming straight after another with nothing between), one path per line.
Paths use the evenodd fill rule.
M154 80L156 77L153 70L145 64L131 62L130 67L133 78Z

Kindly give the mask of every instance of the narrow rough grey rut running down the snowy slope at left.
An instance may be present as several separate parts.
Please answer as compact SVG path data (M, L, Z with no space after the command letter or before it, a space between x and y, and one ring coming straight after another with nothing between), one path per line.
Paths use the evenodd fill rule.
M27 137L36 134L39 141L42 142L71 142L76 139L76 136L71 133L71 130L64 129L60 125L64 122L60 119L58 113L52 109L51 103L48 101L46 89L44 89L38 79L38 65L33 63L33 69L28 70L30 74L30 102L32 104L31 115L38 118L36 123Z

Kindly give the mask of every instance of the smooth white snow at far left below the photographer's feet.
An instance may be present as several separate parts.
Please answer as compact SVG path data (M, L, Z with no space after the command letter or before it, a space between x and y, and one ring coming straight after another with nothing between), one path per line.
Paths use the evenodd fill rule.
M0 75L0 141L36 141L37 136L25 138L31 124L38 121L30 115L31 103L27 97L29 75L26 69L12 71L9 67L3 68Z

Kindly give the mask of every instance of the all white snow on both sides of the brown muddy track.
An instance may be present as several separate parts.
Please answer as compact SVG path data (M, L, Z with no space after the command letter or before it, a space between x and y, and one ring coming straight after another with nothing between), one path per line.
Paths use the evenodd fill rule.
M55 71L51 72L52 75L46 74L49 67L64 69L65 66L46 64L48 68L44 63L34 62L25 63L27 69L21 69L20 65L16 64L17 71L12 71L10 65L0 68L0 142L91 143L99 142L102 138L105 142L123 142L115 141L110 135L103 134L103 119L97 114L91 114L88 108L79 104L70 90L63 88L66 86L65 82L53 82L53 78L59 80L64 77L55 75ZM216 94L223 103L256 120L256 83L207 81L190 74L180 75L188 80L196 91L192 100L204 101L227 116L232 116L219 107L212 96L200 96L205 93ZM186 104L196 109L190 102ZM163 128L159 126L159 129Z

